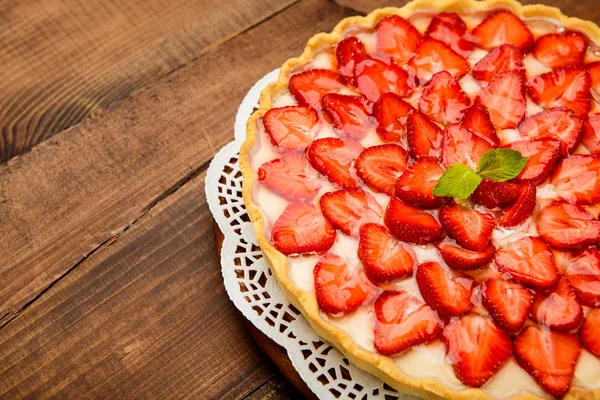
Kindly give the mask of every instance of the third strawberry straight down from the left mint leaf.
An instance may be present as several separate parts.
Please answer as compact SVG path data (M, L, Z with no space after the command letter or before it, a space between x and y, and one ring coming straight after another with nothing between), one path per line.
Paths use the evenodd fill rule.
M473 280L459 271L426 262L415 274L421 296L441 316L456 317L469 311Z

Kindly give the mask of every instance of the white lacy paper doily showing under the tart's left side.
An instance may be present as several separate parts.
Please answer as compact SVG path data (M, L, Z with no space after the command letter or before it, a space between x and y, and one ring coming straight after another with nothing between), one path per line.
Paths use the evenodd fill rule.
M278 69L268 73L250 89L236 115L235 140L215 155L207 172L208 205L225 236L221 270L227 294L254 326L287 350L300 377L320 399L416 399L354 367L324 342L287 301L262 258L242 200L238 153L261 90L278 74Z

